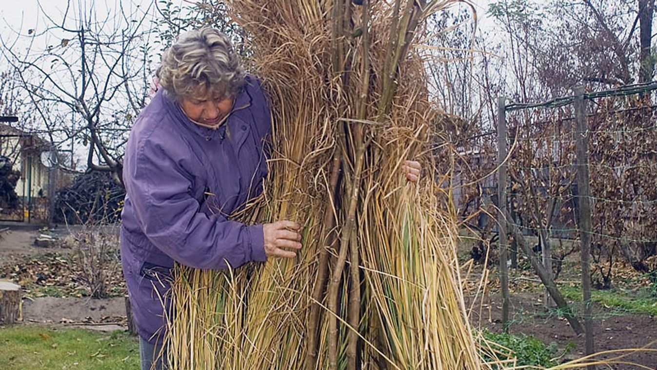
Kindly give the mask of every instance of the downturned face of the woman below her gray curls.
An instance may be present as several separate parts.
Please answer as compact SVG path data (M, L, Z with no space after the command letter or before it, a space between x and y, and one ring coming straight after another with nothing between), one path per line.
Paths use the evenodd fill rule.
M190 120L205 126L217 126L233 109L233 98L213 95L206 89L200 89L191 97L183 99L180 106Z

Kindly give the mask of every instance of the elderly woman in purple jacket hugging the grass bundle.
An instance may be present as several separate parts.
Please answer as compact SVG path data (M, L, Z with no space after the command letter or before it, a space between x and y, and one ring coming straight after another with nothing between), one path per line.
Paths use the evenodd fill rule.
M223 269L301 248L296 222L227 218L260 193L271 130L260 84L227 37L212 28L180 35L157 76L163 89L139 114L124 158L122 262L142 369L160 353L174 262ZM407 161L405 172L417 180L419 164Z

